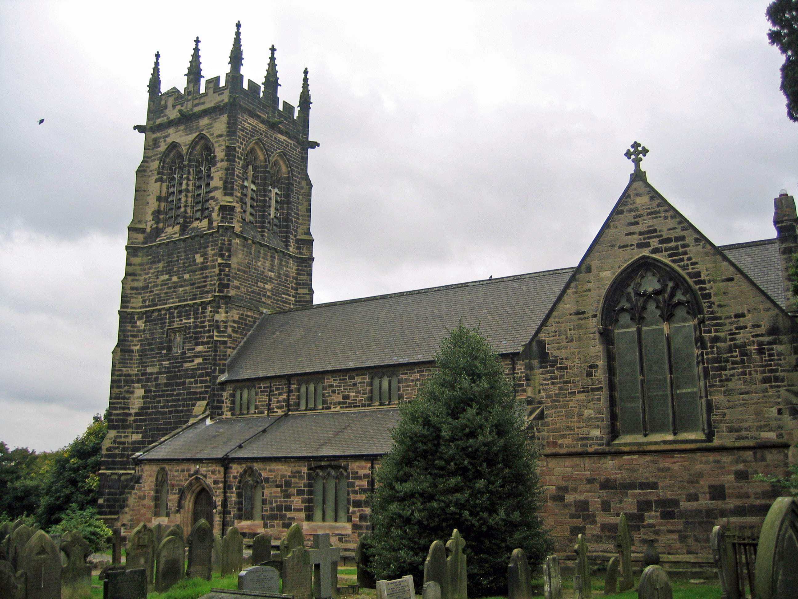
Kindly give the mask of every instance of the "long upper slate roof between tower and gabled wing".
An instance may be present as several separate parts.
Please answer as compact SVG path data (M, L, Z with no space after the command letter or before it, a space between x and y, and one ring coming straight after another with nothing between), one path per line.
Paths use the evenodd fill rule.
M460 321L479 324L499 353L521 351L573 270L271 312L236 349L221 380L428 362Z

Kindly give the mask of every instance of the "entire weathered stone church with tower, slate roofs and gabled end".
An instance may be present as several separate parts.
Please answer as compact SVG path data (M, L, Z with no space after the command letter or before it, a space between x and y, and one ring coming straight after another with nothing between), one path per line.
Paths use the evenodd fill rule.
M136 125L109 524L281 538L302 522L354 547L397 406L460 321L480 324L526 411L562 556L580 533L613 553L621 514L635 551L654 538L685 563L709 559L727 518L762 522L775 492L753 476L796 458L792 196L776 197L774 238L719 247L648 182L635 142L575 267L314 304L307 70L297 109L279 104L274 46L245 86L240 24L223 83L201 85L199 38L182 91L160 91L159 58Z

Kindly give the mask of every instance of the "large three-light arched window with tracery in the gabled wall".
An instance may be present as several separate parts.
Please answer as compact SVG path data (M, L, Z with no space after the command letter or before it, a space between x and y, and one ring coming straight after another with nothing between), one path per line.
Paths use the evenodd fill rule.
M666 264L642 260L618 277L604 306L619 434L704 430L695 324L701 304L689 284Z

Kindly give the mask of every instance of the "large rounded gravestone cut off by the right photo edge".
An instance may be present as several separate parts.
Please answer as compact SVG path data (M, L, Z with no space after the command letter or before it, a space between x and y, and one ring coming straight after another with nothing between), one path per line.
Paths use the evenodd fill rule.
M764 518L757 545L754 593L757 599L798 593L798 501L780 497Z

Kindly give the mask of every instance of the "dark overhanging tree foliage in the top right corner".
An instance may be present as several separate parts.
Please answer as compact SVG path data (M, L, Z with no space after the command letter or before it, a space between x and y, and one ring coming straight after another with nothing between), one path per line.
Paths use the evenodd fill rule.
M768 40L784 54L781 91L787 97L787 116L798 121L798 0L775 0L766 14L773 26Z

